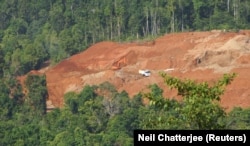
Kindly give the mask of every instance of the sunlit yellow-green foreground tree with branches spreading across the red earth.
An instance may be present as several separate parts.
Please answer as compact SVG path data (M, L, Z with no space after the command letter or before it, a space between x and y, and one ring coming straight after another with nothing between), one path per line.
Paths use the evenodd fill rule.
M218 101L224 93L225 86L232 82L236 74L225 74L213 86L209 86L206 82L196 83L188 79L181 80L166 73L161 73L161 76L171 89L177 89L178 95L183 97L183 101L176 103L164 99L161 90L156 85L152 85L152 91L144 96L150 100L151 106L156 108L153 113L158 112L159 114L156 119L153 119L153 116L149 123L159 125L160 128L164 128L164 126L172 128L167 127L167 125L171 123L171 120L174 120L174 123L185 123L182 127L185 129L225 128L225 123L221 121L225 118L226 113ZM150 111L148 114L151 115ZM165 124L162 125L162 123ZM176 128L176 125L172 124L170 125ZM152 125L146 125L146 127L150 128Z

